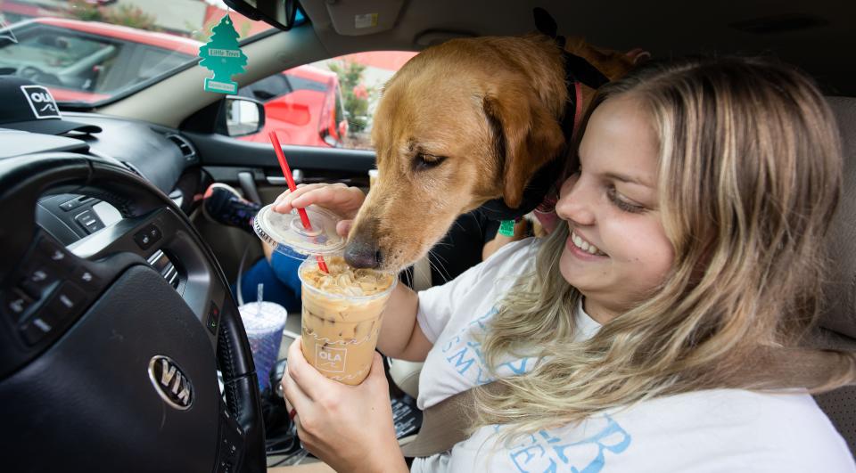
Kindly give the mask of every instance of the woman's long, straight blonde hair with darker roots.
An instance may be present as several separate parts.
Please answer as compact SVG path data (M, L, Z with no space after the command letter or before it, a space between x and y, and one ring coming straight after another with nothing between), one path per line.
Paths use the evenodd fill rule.
M560 224L481 336L490 367L509 355L539 363L500 379L502 392L477 388L475 427L513 424L511 435L656 396L852 382L852 354L799 346L819 314L822 241L842 174L835 118L811 80L761 59L650 64L603 87L580 129L623 94L643 104L660 141L671 273L572 343L581 296L558 271Z

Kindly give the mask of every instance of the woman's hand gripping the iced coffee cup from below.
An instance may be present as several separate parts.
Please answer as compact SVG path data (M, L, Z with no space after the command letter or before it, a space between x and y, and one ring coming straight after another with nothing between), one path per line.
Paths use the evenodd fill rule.
M327 379L303 357L300 338L288 349L285 398L309 452L336 471L407 471L392 425L381 355L358 386Z

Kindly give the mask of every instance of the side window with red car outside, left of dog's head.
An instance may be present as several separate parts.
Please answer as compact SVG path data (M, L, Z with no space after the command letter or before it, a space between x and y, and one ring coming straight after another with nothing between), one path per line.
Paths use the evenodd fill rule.
M287 69L238 94L265 105L265 127L239 139L370 150L372 117L383 85L416 53L374 51Z

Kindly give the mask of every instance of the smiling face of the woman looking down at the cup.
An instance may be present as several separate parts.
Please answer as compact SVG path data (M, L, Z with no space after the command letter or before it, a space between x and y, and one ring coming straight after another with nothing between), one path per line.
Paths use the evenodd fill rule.
M580 172L556 204L571 230L559 269L598 322L637 304L674 260L657 205L659 143L650 123L631 96L597 107L580 143Z

